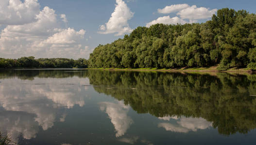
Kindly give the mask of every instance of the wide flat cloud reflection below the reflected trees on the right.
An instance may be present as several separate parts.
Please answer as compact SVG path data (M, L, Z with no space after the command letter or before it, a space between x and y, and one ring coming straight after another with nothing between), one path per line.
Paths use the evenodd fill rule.
M211 122L206 121L204 118L186 118L181 117L179 121L177 121L177 124L171 124L171 123L160 123L158 124L158 127L165 128L166 131L172 131L172 132L183 132L187 133L188 131L197 131L205 130L212 126Z

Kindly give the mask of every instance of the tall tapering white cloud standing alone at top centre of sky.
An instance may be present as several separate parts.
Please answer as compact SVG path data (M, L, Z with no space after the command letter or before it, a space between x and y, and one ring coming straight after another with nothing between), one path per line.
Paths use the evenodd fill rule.
M133 29L129 27L128 20L130 20L134 13L130 11L127 4L123 0L116 0L115 11L111 14L108 22L100 26L99 33L110 34L116 33L116 36L132 32Z

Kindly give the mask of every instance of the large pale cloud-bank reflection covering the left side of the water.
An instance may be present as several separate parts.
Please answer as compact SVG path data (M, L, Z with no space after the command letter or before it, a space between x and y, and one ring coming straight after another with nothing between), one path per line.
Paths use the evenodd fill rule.
M69 80L68 80L69 79ZM61 85L73 83L78 85ZM22 134L25 139L34 138L38 125L47 130L55 121L65 121L66 114L56 118L59 108L72 108L75 104L83 106L84 89L81 84L88 83L86 79L78 77L65 79L40 79L33 81L18 80L17 78L4 80L0 85L0 106L5 111L14 112L19 117L0 114L0 131L12 134L14 140ZM44 85L34 85L44 84ZM5 112L4 111L4 112ZM23 119L23 120L22 120ZM31 129L32 128L32 129Z

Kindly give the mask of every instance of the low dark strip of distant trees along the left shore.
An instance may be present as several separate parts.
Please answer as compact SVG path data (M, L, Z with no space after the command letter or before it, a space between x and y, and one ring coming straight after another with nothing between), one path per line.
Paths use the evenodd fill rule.
M88 60L68 58L39 58L22 57L18 59L0 58L0 68L87 68Z

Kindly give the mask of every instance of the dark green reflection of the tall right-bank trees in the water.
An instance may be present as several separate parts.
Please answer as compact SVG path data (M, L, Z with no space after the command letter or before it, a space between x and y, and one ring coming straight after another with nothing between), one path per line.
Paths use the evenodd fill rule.
M255 75L88 71L96 91L157 117L203 117L222 134L256 128ZM111 88L111 89L110 89Z

